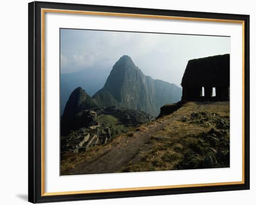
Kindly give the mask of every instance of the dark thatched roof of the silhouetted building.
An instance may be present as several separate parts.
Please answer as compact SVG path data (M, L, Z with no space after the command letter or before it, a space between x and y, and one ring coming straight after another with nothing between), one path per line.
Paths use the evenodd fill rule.
M182 87L229 86L229 54L189 60Z

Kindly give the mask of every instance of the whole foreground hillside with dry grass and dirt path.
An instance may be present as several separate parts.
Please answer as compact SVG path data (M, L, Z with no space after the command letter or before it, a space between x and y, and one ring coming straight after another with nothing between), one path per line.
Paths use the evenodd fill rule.
M64 155L61 175L213 167L229 167L229 102L186 102L106 145Z

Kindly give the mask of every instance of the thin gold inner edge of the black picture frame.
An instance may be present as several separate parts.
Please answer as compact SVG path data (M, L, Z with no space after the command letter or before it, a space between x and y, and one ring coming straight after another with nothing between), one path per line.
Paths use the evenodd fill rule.
M101 16L119 16L119 17L136 17L136 18L151 18L151 19L172 19L172 20L192 20L192 21L207 21L207 22L222 22L222 23L238 23L242 24L242 181L232 182L216 182L203 184L186 184L186 185L170 185L170 186L146 186L146 187L132 187L132 188L115 188L115 189L100 189L100 190L84 190L84 191L67 191L67 192L45 192L45 13L68 13L68 14L87 14L87 15L101 15ZM225 186L225 185L239 185L244 184L244 21L230 20L230 19L205 19L192 17L175 17L175 16L161 16L161 15L145 15L145 14L131 14L131 13L108 13L108 12L91 12L91 11L74 11L61 9L45 9L41 8L41 196L54 195L68 195L68 194L85 194L85 193L103 193L103 192L127 192L139 190L154 190L154 189L170 189L170 188L185 188L185 187L199 187L199 186Z

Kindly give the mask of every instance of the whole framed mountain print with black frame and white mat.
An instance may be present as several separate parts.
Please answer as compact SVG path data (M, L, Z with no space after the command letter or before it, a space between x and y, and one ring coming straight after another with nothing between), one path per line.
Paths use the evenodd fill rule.
M28 200L249 189L249 15L28 4Z

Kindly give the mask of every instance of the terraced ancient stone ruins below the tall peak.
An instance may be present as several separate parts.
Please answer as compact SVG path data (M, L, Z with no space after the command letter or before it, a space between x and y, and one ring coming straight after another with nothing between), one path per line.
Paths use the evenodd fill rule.
M117 124L106 125L102 123L99 117L102 115L112 115L118 119ZM86 152L90 147L96 145L105 145L115 135L120 135L124 131L117 130L118 125L127 128L135 128L141 124L150 122L155 118L144 113L127 108L95 108L94 110L83 109L73 117L74 130L69 134L61 136L61 154ZM118 131L118 132L117 132Z

